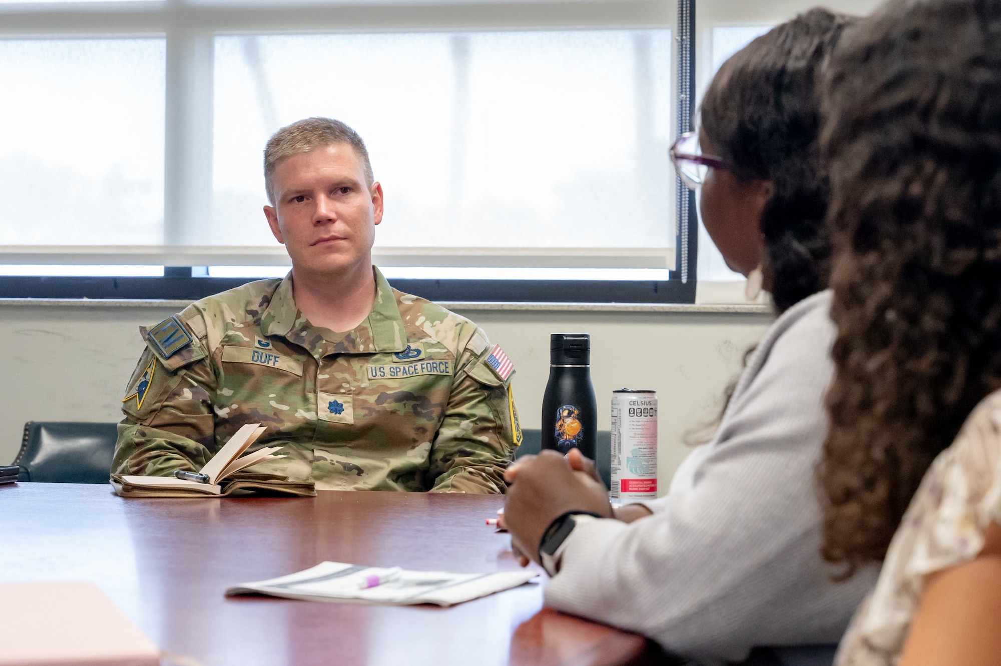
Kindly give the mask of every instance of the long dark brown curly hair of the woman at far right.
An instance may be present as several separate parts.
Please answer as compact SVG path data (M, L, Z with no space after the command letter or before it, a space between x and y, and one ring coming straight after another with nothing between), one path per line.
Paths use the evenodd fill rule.
M1001 0L891 2L824 89L839 332L818 474L822 554L848 576L1001 387Z

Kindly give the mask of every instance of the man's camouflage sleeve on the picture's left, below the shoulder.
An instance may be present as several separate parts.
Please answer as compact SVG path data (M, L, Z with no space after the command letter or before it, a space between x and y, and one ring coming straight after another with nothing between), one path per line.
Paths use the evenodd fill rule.
M125 418L118 424L112 472L169 476L177 469L200 470L218 450L215 388L197 338L169 358L147 347L122 401Z

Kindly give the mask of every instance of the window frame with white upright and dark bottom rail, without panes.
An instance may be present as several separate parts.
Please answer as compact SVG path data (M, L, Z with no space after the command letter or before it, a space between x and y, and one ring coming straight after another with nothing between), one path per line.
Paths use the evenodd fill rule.
M678 30L676 7L651 0L549 0L542 2L360 4L364 0L293 5L276 2L257 4L193 4L182 0L122 0L104 2L3 3L0 4L0 39L93 39L161 38L166 44L164 114L164 255L167 268L163 278L149 277L60 277L0 276L3 298L199 298L216 293L250 278L192 277L191 265L205 265L185 256L178 247L196 235L210 221L213 124L213 44L219 35L241 34L336 34L356 32L461 32L509 30L595 30L670 29ZM694 0L678 0L679 6L694 9ZM267 2L267 0L264 0ZM393 2L393 0L390 0ZM677 43L677 39L675 40ZM673 55L677 57L677 51ZM672 67L672 98L677 98L678 61ZM673 107L675 105L672 105ZM671 124L678 118L671 110ZM694 199L693 199L694 200ZM666 224L670 224L667 220ZM684 225L690 226L690 225ZM675 220L676 231L682 225ZM687 236L688 246L676 240L675 248L665 248L671 256L663 263L645 256L639 249L624 249L620 256L592 260L588 252L558 261L555 266L673 268L665 281L582 281L582 280L393 280L399 288L437 300L449 301L539 301L539 302L695 302L695 252L698 234ZM57 250L64 255L56 261L40 261L39 251ZM72 248L19 248L0 246L0 263L90 263L86 258L101 248L79 248L80 256L65 256ZM104 248L115 254L116 248ZM147 248L153 249L153 248ZM212 248L209 248L212 249ZM218 248L215 248L218 249ZM238 248L250 250L250 248ZM266 248L260 254L273 254ZM401 248L386 248L391 250ZM423 250L423 248L421 248ZM660 248L658 248L660 249ZM197 254L197 253L195 253ZM446 248L426 248L411 253L404 263L376 265L443 265L440 255ZM518 250L511 254L518 255ZM516 266L548 266L532 259L532 252L513 258ZM574 252L570 252L574 255ZM594 253L592 253L594 254ZM615 251L611 251L616 255ZM656 254L648 253L648 254ZM430 260L434 258L434 263ZM689 261L689 257L692 258ZM148 261L147 257L147 261ZM521 259L521 260L520 260ZM127 257L100 263L129 262ZM425 261L425 263L421 263ZM550 258L547 261L552 261ZM597 263L596 263L597 262ZM98 263L95 261L94 263ZM153 259L152 263L159 263ZM245 257L227 261L250 264ZM270 263L270 262L267 262ZM279 262L281 263L281 262ZM456 264L451 264L456 265ZM461 264L457 264L461 265ZM491 261L485 265L497 263ZM677 284L676 284L677 283ZM208 291L206 291L208 290Z

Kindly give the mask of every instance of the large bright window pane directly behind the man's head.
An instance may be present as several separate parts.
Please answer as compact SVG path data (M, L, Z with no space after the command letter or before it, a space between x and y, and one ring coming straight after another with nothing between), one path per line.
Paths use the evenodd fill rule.
M325 115L368 145L379 247L667 256L671 47L669 30L217 37L211 244L248 227L242 244L274 244L261 147Z

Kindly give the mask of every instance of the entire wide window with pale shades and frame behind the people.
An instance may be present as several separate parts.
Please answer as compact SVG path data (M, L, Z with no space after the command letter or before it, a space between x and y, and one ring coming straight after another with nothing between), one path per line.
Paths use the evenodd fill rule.
M699 3L697 92L811 4ZM691 301L693 284L668 279L677 11L0 0L0 86L17 100L0 107L0 293L195 297L282 273L260 212L263 144L328 115L368 143L386 191L375 261L391 278L471 300ZM699 279L733 277L704 231L699 250Z

